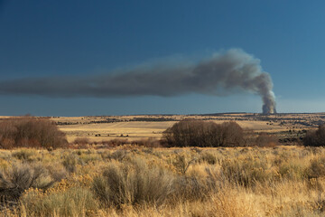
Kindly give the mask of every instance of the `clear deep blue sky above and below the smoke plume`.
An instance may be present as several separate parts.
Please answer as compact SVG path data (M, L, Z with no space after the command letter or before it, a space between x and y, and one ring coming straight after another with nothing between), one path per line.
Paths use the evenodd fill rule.
M278 112L325 111L324 1L2 1L0 80L103 73L241 48L272 76ZM0 95L0 115L261 112L260 97Z

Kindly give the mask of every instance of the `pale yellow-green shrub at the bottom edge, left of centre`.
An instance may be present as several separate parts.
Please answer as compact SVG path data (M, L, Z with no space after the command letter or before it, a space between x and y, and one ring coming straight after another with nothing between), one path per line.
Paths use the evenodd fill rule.
M31 189L21 198L22 216L97 216L98 201L88 188L43 193Z

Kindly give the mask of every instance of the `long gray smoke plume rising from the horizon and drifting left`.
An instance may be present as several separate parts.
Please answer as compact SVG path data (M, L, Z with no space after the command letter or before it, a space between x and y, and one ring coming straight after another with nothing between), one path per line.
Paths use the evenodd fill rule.
M261 96L263 113L275 113L273 83L252 55L231 49L194 64L159 64L119 73L84 77L47 77L0 82L0 94L46 97L175 96L188 93L225 95L248 91Z

